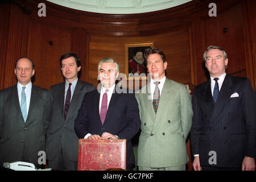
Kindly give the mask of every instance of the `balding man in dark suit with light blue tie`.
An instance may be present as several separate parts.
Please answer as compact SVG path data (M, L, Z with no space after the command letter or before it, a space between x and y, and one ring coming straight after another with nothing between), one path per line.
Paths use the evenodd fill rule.
M0 165L23 161L39 168L50 111L48 91L32 84L35 68L27 57L16 60L14 72L18 83L0 91Z

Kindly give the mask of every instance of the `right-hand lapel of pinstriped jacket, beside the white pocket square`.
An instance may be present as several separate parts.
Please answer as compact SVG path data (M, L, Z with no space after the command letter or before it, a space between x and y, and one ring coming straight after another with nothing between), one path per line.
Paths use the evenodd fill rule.
M227 74L222 83L220 93L218 94L218 99L217 99L217 102L216 102L214 110L213 110L212 119L217 117L218 113L220 113L220 111L224 107L226 101L232 94L232 86L233 85L232 85L231 76Z

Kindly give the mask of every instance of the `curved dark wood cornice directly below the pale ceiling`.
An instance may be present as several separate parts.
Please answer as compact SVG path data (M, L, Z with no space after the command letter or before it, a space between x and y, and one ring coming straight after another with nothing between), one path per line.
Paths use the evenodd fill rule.
M241 0L217 0L218 12ZM84 28L91 34L105 36L146 36L161 34L177 27L187 27L201 16L209 18L208 5L212 0L194 0L170 9L139 14L100 14L56 5L46 0L26 0L32 7L32 19ZM35 17L38 3L46 3L47 17ZM47 19L48 18L48 19ZM103 28L102 28L103 27ZM128 31L127 31L128 30Z

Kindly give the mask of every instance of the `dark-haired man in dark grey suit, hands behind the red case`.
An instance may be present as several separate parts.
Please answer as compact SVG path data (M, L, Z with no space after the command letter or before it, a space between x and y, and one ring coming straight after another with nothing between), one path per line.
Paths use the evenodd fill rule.
M47 127L46 154L49 168L77 170L78 142L74 123L86 92L95 89L88 82L80 81L79 57L66 53L60 57L60 69L64 82L51 86L51 121Z

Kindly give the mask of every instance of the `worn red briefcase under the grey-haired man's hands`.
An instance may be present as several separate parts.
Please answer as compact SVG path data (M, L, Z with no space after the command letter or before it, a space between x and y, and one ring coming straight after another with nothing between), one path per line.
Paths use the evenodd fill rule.
M126 139L79 139L79 171L126 169Z

